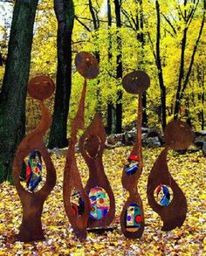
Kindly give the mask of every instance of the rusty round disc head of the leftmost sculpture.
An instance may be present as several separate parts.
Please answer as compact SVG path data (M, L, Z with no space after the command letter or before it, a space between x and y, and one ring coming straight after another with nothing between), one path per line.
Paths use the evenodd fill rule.
M51 78L39 75L32 78L28 84L28 93L36 100L45 100L52 96L55 85Z

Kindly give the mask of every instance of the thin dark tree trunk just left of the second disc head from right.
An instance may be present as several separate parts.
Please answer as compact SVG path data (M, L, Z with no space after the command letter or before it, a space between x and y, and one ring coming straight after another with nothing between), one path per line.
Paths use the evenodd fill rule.
M116 79L117 83L120 83L122 79L122 44L120 37L121 19L120 19L120 4L121 1L114 0L116 26L117 26L117 68L116 68ZM122 91L118 89L117 100L116 100L116 133L120 134L122 130Z

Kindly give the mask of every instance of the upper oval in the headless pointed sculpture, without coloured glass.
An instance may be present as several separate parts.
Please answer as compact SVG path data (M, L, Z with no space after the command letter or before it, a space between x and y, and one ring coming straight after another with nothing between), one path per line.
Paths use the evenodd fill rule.
M86 150L86 155L95 158L100 153L101 140L98 135L90 135L86 138L84 143L84 149Z

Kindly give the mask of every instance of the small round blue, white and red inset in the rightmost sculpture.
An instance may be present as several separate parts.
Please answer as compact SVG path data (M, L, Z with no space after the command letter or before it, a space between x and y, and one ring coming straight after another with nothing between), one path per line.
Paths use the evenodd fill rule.
M160 184L154 190L154 198L161 206L168 206L173 198L172 189L168 185Z

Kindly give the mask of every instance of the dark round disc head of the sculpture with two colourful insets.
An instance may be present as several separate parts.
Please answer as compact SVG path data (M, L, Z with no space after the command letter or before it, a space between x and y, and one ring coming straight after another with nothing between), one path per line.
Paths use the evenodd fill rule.
M150 79L144 71L134 71L124 76L122 84L127 93L139 94L148 89Z

